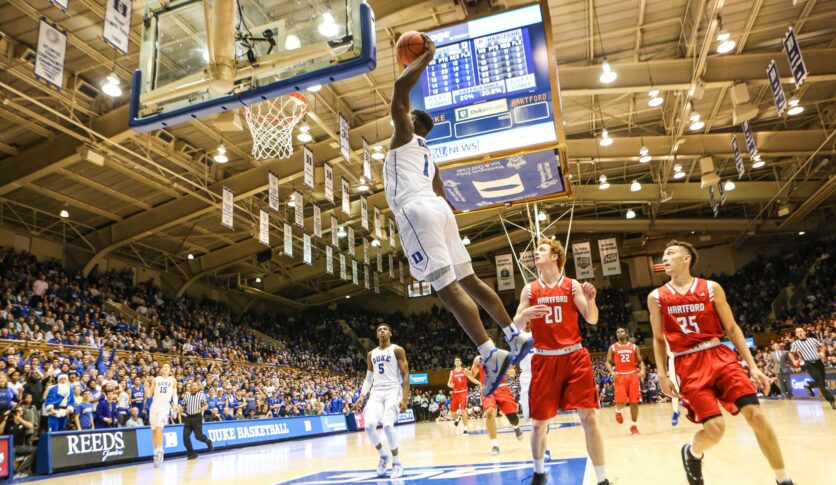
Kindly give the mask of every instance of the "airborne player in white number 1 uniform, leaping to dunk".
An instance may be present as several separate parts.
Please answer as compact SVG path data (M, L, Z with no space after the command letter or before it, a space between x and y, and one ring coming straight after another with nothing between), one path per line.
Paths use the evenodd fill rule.
M462 244L427 147L426 136L433 128L433 119L424 111L409 111L409 92L435 55L433 41L426 35L423 38L424 53L395 81L390 108L395 130L383 164L383 186L410 273L432 285L478 347L487 373L482 395L489 396L499 387L508 367L517 365L528 353L532 342L520 335L496 293L473 273L470 255ZM488 337L477 303L502 327L510 353L497 349Z

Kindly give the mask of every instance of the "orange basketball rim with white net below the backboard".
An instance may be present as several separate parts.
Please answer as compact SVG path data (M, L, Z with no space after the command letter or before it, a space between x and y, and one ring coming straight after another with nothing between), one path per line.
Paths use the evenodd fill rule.
M308 101L299 93L268 99L244 107L253 136L253 158L288 158L293 155L293 128L308 112Z

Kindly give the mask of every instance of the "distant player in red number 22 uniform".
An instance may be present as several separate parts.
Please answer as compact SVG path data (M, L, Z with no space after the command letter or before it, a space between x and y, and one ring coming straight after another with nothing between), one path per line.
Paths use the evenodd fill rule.
M607 351L607 370L613 376L615 382L615 420L618 424L624 422L621 410L625 404L630 403L630 419L633 424L630 426L630 433L639 434L636 422L639 419L639 401L641 400L641 389L639 382L644 379L644 361L641 351L633 342L627 341L627 330L619 328L615 331L618 341L610 345ZM615 368L613 368L615 362ZM638 368L636 368L638 363Z

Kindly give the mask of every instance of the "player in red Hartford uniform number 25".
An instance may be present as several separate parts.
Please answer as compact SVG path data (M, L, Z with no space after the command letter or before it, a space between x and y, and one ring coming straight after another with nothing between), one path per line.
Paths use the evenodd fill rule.
M647 297L653 327L656 363L664 366L665 342L670 346L679 379L678 394L688 419L702 429L682 447L682 464L688 483L702 485L703 453L720 442L726 424L717 401L732 414L743 413L755 432L761 452L775 471L778 484L791 484L775 431L758 404L755 386L735 353L720 342L728 335L749 366L752 378L765 391L769 378L752 358L746 339L734 320L723 288L714 281L691 276L697 251L686 242L671 241L662 257L671 280ZM664 369L659 369L662 392L677 395Z

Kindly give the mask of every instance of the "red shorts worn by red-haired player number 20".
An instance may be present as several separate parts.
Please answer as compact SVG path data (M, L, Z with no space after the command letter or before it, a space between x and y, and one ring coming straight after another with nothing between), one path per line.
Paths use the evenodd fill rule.
M531 358L531 388L528 391L531 419L546 420L558 411L598 407L598 388L592 374L592 359L586 349L566 355Z

